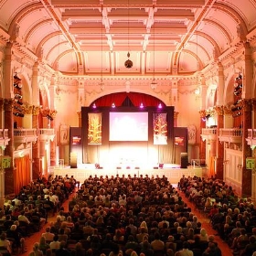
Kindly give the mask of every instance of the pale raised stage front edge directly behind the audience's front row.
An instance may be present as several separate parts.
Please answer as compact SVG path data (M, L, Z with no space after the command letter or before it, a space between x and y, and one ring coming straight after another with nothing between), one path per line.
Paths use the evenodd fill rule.
M78 165L78 168L71 168L70 166L55 166L50 169L50 173L54 176L74 176L77 181L83 181L89 176L166 176L171 184L177 184L180 178L185 176L202 176L203 168L188 166L187 168L180 168L179 165L165 164L163 168L158 166L140 168L129 166L100 167L96 168L94 164Z

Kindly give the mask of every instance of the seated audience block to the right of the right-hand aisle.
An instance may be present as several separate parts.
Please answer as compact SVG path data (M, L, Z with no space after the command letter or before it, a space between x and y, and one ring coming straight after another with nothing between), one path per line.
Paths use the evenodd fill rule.
M183 176L178 187L208 216L233 255L256 255L256 209L250 197L239 198L232 187L214 178Z

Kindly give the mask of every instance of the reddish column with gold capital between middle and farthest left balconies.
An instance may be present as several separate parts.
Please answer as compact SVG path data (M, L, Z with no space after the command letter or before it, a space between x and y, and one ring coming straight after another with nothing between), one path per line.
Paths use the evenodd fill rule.
M40 112L40 106L33 106L32 109L32 128L38 128L38 115ZM38 144L40 141L40 134L37 133L37 142L32 144L32 178L37 179L37 177L42 176L42 166L40 165L39 148Z

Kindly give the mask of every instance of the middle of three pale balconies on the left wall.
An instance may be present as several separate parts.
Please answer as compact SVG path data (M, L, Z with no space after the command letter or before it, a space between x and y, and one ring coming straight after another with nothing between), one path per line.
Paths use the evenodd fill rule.
M14 129L15 144L35 143L37 141L37 129Z

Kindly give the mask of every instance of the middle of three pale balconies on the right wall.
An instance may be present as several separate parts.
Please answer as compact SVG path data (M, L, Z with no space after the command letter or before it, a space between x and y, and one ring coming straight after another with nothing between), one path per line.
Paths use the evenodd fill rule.
M219 141L229 144L241 144L242 143L242 129L230 128L219 129Z

